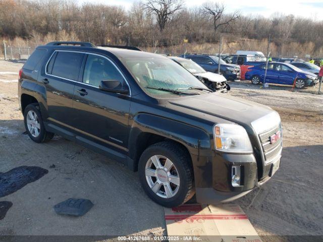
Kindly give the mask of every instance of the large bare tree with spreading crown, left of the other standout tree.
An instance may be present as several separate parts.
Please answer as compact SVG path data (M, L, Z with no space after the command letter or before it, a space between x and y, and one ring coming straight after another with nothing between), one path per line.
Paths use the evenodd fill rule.
M184 7L182 0L147 0L146 9L157 18L159 31L163 32L168 20Z

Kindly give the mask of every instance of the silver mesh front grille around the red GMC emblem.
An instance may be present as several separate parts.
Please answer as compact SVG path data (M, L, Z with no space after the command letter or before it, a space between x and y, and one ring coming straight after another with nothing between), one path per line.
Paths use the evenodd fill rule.
M278 131L281 131L280 126L259 135L265 163L271 162L275 157L280 155L282 149L282 135L275 143L271 143L271 136Z

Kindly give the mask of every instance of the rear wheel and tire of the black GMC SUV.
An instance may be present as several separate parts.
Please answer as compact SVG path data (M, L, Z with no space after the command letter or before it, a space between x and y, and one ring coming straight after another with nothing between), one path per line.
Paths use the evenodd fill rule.
M36 142L47 142L54 136L45 130L38 103L27 105L24 111L24 123L29 138Z

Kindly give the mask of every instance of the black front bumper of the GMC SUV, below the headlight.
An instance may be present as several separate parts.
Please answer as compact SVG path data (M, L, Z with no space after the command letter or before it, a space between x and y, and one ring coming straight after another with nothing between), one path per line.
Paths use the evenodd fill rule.
M197 157L192 158L196 200L201 204L231 202L248 194L271 178L273 164L278 162L266 164L268 174L258 180L257 163L253 154L217 153L214 157L198 157L198 161ZM241 167L241 186L238 187L232 186L233 165Z

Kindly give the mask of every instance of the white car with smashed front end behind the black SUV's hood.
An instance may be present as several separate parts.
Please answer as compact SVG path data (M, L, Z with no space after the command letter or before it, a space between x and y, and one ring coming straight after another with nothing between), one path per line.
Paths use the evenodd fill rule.
M224 93L230 90L230 86L228 85L227 79L224 76L205 71L191 59L185 59L178 56L169 56L169 58L192 73L211 90Z

